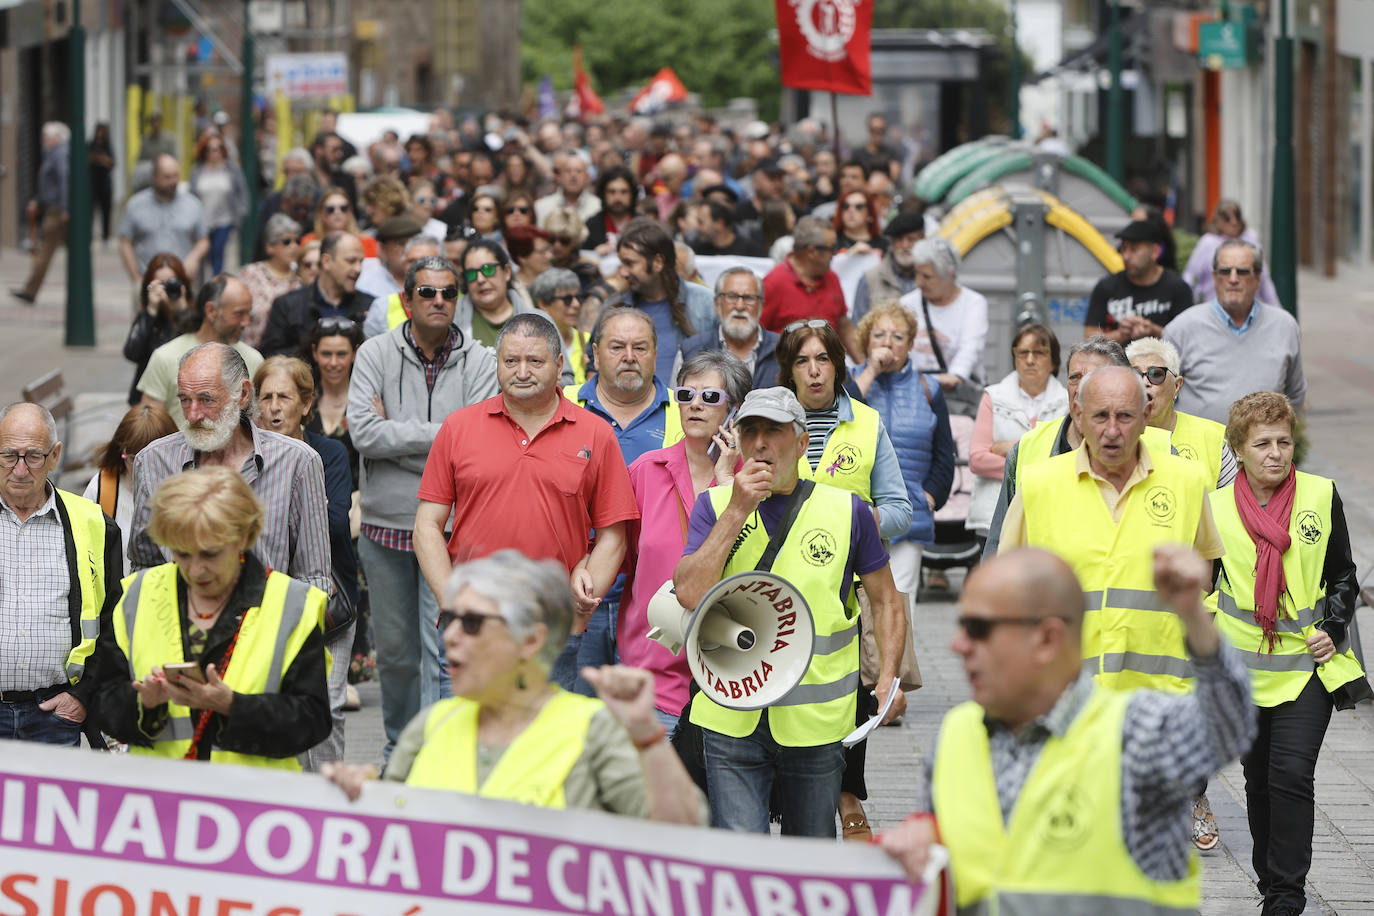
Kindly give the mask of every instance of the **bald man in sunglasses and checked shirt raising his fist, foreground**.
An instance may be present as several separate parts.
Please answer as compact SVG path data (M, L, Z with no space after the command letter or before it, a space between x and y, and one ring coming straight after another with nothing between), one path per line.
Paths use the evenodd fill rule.
M1189 803L1249 747L1254 710L1202 606L1210 563L1162 545L1150 571L1186 633L1193 694L1094 684L1079 665L1084 593L1058 556L1011 551L969 577L949 648L973 699L940 726L927 813L879 836L914 880L944 843L959 912L1197 911Z

